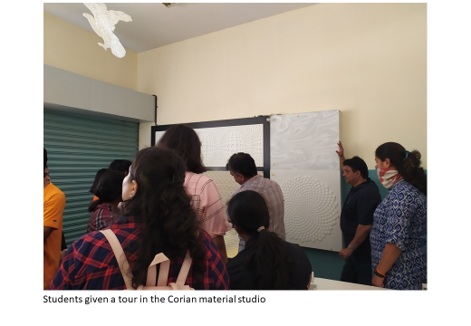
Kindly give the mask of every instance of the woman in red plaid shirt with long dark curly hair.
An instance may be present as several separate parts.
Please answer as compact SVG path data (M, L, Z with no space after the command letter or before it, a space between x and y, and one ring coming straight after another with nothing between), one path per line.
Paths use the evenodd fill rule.
M186 284L195 290L226 290L229 280L211 236L199 227L183 187L186 167L168 149L142 149L122 182L123 213L110 229L132 272L132 288L147 281L156 254L170 260L168 283L177 281L187 252L192 263ZM159 273L157 273L159 274ZM83 235L70 247L51 290L123 290L125 281L111 245L101 232Z

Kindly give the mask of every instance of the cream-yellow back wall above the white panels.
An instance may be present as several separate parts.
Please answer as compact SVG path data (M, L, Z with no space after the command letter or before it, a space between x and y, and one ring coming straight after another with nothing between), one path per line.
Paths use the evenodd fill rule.
M159 124L341 110L347 157L374 168L396 141L426 167L427 5L312 5L138 53L138 91Z

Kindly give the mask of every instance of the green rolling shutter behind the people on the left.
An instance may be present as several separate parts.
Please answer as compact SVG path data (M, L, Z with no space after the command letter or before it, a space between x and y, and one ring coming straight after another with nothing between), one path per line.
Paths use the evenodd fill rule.
M139 123L44 109L43 132L51 182L66 197L62 227L71 245L86 233L96 172L114 159L134 159Z

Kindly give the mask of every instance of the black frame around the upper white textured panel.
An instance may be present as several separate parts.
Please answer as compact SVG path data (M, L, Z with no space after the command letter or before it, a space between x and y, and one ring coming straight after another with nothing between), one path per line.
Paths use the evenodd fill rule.
M188 127L193 129L201 128L216 128L216 127L233 127L262 124L264 127L264 166L257 167L257 171L264 171L264 177L270 178L270 116L258 116L254 118L231 119L231 120L216 120L205 122L185 123ZM160 125L151 127L150 144L152 146L156 143L156 131L165 131L174 125ZM208 171L226 171L226 167L207 167Z

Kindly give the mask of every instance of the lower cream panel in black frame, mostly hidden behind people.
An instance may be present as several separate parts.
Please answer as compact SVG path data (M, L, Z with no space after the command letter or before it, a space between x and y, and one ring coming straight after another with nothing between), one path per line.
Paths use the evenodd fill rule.
M264 176L263 171L259 171L258 174ZM225 206L235 193L235 190L240 187L240 185L234 181L234 177L231 176L229 171L207 171L203 173L203 175L209 177L216 183ZM239 251L239 236L234 228L224 235L224 242L226 243L227 257L235 257Z

